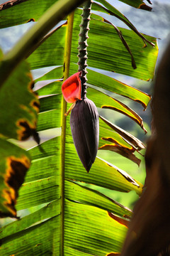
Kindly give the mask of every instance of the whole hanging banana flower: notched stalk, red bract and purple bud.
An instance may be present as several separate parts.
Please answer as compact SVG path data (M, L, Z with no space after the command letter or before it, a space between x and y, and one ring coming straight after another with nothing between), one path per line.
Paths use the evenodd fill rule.
M74 145L81 163L87 172L91 169L98 151L99 121L94 102L86 97L87 38L91 15L91 1L86 1L81 14L79 33L79 72L62 84L62 94L67 102L72 102L70 126Z

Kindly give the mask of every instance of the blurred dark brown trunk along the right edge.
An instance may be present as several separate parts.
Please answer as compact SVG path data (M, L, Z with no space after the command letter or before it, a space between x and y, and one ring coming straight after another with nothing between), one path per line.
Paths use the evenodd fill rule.
M153 133L145 155L147 176L121 256L170 255L170 44L154 82Z

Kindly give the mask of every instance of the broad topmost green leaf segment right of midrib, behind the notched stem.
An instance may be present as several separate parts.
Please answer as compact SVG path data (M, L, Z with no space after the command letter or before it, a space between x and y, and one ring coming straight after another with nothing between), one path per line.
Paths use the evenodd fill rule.
M77 10L74 18L73 41L78 41L80 11ZM123 73L134 78L143 80L152 79L154 75L154 63L157 60L157 46L147 46L143 48L144 43L139 36L133 31L121 28L121 32L125 37L135 58L137 69L133 69L131 58L128 51L121 43L120 38L111 24L97 21L95 15L91 15L95 19L91 19L91 29L89 31L89 50L88 65L94 68L109 70L115 73ZM155 38L146 36L149 41L156 43ZM108 42L111 42L108 47ZM114 42L114 43L113 43ZM103 48L105 49L103 51ZM101 52L103 53L101 54ZM72 62L77 62L77 44L72 46ZM147 60L147 61L146 61Z

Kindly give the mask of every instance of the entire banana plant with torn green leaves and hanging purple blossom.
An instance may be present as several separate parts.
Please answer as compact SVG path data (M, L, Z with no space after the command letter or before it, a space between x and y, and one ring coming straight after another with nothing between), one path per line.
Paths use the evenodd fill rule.
M122 1L151 10L142 0ZM111 93L144 109L150 95L98 70L152 79L157 39L137 31L106 0L86 1L82 11L83 2L15 0L0 6L0 28L35 22L8 53L1 53L0 213L2 218L16 218L1 228L4 256L119 255L132 210L98 192L96 186L142 193L142 183L96 156L96 148L140 164L134 153L145 145L101 115L98 121L96 107L125 114L146 132L142 118ZM117 28L103 13L119 18L130 30ZM30 70L47 67L47 72L32 77ZM71 104L62 91L68 102L73 91L70 121L66 113ZM55 129L55 135L41 142L41 132L48 129ZM31 136L38 145L28 151L10 141ZM90 156L84 160L87 151ZM89 183L92 188L86 186ZM20 218L20 210L28 208L32 211Z

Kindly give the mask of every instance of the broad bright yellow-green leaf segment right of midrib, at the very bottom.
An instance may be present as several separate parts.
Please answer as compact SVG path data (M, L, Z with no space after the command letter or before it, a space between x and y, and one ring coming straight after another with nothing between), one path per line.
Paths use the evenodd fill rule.
M127 228L109 217L105 210L70 201L65 203L64 245L68 251L69 247L74 249L75 256L81 252L98 256L120 252L126 231Z

